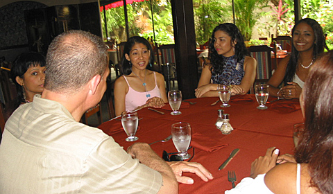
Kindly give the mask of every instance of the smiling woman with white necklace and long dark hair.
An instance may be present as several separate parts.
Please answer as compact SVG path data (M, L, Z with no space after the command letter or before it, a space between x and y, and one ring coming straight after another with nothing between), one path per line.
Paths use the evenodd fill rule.
M267 82L271 85L270 96L300 98L309 67L314 64L318 55L323 53L324 48L327 48L323 29L314 19L301 19L293 26L291 33L291 55L281 60ZM280 88L281 84L283 87Z

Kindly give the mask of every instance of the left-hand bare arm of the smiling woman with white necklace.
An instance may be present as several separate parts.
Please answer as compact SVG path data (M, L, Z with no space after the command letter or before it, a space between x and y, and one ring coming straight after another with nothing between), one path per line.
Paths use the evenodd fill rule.
M275 69L272 77L268 80L267 84L269 87L269 96L278 96L280 90L279 85L282 83L284 76L286 75L287 64L289 62L290 55L281 60L278 67ZM282 94L279 94L282 97Z

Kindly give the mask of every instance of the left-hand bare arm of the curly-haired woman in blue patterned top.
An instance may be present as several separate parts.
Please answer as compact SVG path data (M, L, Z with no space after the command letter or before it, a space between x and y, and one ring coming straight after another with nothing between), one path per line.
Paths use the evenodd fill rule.
M219 96L217 92L217 84L211 84L212 72L210 71L211 65L205 65L201 72L198 88L196 89L196 98Z

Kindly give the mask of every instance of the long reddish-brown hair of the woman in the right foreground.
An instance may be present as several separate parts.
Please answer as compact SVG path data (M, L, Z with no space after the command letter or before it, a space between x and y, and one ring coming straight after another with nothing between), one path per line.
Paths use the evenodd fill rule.
M297 163L308 164L311 186L333 193L333 52L311 67L303 88L305 130L295 150Z

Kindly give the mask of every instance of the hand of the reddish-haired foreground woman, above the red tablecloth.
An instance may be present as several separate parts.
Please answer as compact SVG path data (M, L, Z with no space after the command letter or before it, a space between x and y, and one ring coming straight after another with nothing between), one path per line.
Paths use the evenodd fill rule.
M271 170L275 165L278 159L279 150L275 147L268 148L266 155L259 157L253 161L251 164L251 174L250 177L255 179L257 175L262 175Z

